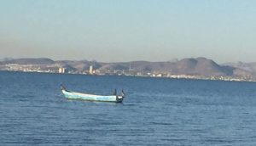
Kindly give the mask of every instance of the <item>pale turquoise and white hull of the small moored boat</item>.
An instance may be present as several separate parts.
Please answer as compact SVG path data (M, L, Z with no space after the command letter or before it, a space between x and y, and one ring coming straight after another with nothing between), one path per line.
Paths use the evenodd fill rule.
M65 98L69 99L80 99L80 100L87 100L87 101L101 101L101 102L114 102L114 103L121 103L123 101L122 96L116 95L94 95L88 93L75 93L66 90L61 90L64 94Z

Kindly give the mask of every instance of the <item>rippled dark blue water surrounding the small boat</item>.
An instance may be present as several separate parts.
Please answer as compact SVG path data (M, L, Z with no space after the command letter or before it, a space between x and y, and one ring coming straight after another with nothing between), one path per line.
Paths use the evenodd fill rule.
M123 104L70 90L127 93ZM256 145L256 83L0 72L0 145Z

